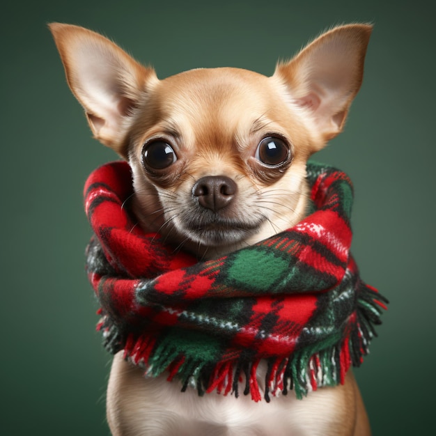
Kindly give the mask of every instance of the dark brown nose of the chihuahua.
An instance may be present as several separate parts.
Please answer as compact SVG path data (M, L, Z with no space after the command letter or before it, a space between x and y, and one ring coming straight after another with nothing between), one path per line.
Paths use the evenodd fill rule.
M238 185L226 176L203 177L192 187L192 194L198 198L198 203L214 212L231 203L237 191Z

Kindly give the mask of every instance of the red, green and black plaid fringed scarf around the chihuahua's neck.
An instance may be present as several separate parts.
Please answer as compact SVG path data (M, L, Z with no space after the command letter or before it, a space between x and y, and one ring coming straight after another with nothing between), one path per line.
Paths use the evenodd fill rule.
M85 186L95 233L86 270L100 302L98 330L111 353L194 385L199 394L297 398L343 383L376 336L387 299L359 277L350 254L352 185L344 173L307 165L313 212L293 228L227 256L198 262L144 234L125 201L125 162L97 169Z

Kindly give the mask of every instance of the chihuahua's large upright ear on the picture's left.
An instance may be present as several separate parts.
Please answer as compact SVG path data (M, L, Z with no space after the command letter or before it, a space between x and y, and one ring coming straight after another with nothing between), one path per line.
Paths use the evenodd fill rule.
M126 157L125 134L141 96L158 79L107 38L70 24L49 24L68 84L96 139Z

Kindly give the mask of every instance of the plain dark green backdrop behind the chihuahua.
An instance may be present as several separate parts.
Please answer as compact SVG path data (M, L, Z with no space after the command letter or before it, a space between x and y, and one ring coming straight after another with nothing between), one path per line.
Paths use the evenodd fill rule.
M10 2L12 3L12 2ZM373 22L345 132L318 155L355 183L353 251L391 300L356 371L374 435L434 434L435 22L430 1L15 1L1 7L2 435L107 435L110 358L84 274L91 139L47 22L101 31L160 77L272 74L320 31Z

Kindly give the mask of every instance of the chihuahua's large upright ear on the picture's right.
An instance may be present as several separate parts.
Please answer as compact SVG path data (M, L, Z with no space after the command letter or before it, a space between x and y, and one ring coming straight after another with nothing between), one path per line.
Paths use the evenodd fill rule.
M311 42L288 63L277 65L274 77L290 98L313 116L318 134L328 141L341 132L352 99L361 86L372 26L338 26Z

